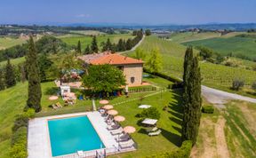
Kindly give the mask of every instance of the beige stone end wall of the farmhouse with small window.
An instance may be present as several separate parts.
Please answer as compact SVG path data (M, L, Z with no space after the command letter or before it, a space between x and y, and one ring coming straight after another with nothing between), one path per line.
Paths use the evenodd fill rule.
M143 64L124 65L123 70L128 85L142 83Z

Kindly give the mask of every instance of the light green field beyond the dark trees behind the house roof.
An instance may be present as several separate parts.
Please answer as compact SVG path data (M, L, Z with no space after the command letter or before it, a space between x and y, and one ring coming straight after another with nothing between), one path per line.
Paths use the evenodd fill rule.
M118 34L118 35L100 35L97 36L97 42L98 46L100 46L101 42L107 42L107 39L109 38L112 43L117 43L119 39L125 39L133 38L134 36L130 34ZM92 43L92 36L64 36L60 37L60 39L68 43L68 45L77 45L78 41L80 40L82 49ZM101 47L101 46L100 46Z

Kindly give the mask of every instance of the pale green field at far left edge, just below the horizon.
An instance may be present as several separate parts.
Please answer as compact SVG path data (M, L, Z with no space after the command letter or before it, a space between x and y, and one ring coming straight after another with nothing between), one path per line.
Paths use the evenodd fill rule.
M14 45L18 45L21 43L25 43L26 40L20 38L12 38L12 37L3 37L0 36L0 50L12 47Z

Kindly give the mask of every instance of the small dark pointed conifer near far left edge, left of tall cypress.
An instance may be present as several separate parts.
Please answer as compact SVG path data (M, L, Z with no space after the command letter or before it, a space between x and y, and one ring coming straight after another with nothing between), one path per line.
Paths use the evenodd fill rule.
M12 67L10 59L8 59L5 66L5 85L7 88L12 87L16 84L16 76L14 71L14 67Z

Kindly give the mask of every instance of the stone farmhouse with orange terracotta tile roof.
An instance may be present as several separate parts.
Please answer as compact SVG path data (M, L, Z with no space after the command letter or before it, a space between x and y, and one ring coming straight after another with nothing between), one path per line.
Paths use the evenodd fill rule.
M143 61L140 59L132 59L108 51L80 56L78 59L84 61L85 67L89 65L113 65L124 72L127 85L135 86L142 84Z

